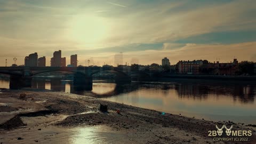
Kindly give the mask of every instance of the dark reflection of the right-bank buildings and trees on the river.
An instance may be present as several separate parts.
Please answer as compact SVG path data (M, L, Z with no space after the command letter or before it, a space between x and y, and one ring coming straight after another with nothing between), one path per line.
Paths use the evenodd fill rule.
M225 95L232 96L234 101L239 100L241 103L253 103L255 97L255 85L246 84L175 84L179 98L207 99L209 96L217 97Z

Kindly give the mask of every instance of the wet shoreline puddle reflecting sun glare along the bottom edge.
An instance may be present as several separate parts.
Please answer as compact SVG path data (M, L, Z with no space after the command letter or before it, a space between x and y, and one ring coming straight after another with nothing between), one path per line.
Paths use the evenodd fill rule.
M37 129L42 129L38 131ZM19 132L18 132L19 131ZM113 131L107 126L66 128L61 126L34 127L1 133L4 143L125 143L131 141L126 133ZM17 140L17 138L22 140Z

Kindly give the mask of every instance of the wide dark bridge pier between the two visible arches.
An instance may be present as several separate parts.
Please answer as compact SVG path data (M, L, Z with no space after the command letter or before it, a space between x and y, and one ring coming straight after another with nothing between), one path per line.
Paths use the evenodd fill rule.
M81 74L75 74L74 75L74 89L78 91L92 90L92 77L91 76L85 76Z

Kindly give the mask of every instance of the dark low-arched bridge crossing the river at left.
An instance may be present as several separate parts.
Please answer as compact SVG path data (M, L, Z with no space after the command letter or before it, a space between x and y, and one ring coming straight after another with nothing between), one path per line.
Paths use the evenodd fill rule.
M84 89L92 89L92 76L101 71L110 71L115 74L117 83L131 82L131 75L137 74L142 77L150 77L150 73L143 71L127 71L118 67L0 67L0 74L10 75L10 88L31 87L33 76L63 71L74 74L74 85L82 86Z

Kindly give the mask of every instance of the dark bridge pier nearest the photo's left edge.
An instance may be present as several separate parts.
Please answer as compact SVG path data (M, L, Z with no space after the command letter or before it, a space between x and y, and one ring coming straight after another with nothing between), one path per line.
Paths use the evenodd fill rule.
M22 87L31 87L32 78L29 76L10 76L10 89L21 89Z

